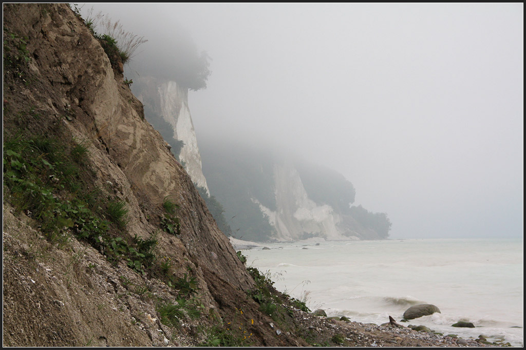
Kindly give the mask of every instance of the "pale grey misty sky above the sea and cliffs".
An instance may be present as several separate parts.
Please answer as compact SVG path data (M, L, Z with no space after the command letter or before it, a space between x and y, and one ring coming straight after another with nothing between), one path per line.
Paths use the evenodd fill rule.
M335 169L392 238L522 235L522 3L92 6L139 50L170 55L186 32L208 52L198 142Z

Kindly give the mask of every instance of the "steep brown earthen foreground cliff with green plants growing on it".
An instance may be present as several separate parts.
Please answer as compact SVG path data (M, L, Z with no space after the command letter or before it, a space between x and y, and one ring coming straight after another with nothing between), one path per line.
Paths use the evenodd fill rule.
M3 9L4 345L193 345L235 318L305 344L257 327L254 279L83 20Z

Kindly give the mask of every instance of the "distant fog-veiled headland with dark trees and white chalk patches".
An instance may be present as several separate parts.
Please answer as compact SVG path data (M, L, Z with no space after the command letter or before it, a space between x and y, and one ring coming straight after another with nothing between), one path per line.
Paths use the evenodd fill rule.
M355 189L330 169L248 146L201 142L210 189L249 241L387 238L386 214L350 207Z

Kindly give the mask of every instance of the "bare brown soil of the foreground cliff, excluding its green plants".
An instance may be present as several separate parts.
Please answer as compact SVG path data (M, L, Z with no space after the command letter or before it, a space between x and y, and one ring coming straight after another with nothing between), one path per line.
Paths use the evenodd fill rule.
M169 272L197 282L201 315L257 313L245 294L254 280L83 21L65 4L3 9L4 49L7 38L9 51L24 55L4 66L4 138L25 132L82 143L94 186L127 203L125 239L157 234L156 256L172 262ZM73 235L53 244L4 194L4 345L185 345L198 337L197 328L176 332L159 322L156 304L175 304L173 288L125 260L110 263ZM159 229L167 196L178 205L178 235ZM149 298L133 293L140 287Z

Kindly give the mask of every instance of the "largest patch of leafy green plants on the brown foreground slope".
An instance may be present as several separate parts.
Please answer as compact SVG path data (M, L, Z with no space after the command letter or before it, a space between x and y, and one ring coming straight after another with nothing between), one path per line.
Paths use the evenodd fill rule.
M87 151L72 142L70 148L49 137L8 138L4 141L4 195L15 210L39 223L52 243L64 244L71 234L101 250L109 261L125 259L128 266L145 273L154 265L155 235L135 236L126 241L110 234L110 224L102 218L96 203L102 199L98 188L87 189L80 180ZM83 165L81 165L83 164ZM112 201L105 212L118 228L128 223L124 201ZM195 282L191 279L188 283Z

